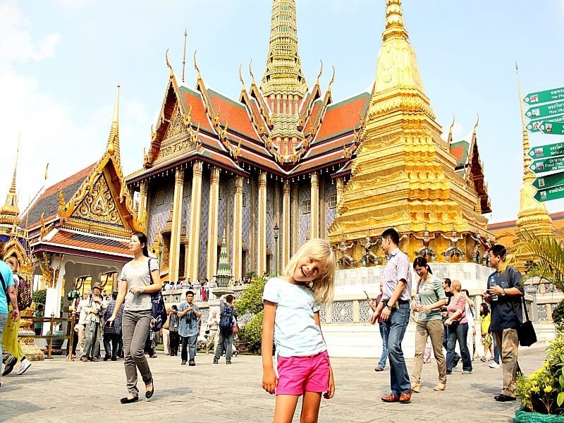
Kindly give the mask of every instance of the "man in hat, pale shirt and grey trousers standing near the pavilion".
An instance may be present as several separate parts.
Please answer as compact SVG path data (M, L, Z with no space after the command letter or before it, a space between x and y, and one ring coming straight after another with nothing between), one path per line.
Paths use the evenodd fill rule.
M87 304L82 308L86 314L84 349L82 350L81 361L98 361L100 353L100 328L102 324L102 314L104 314L104 299L102 298L102 286L98 281L92 283L92 295L87 300Z

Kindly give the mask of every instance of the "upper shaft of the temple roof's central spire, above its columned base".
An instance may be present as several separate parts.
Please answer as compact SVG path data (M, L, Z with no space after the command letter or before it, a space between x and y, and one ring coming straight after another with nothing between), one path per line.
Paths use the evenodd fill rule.
M298 54L295 0L274 0L272 3L269 53L260 88L265 97L298 94L303 98L307 92Z

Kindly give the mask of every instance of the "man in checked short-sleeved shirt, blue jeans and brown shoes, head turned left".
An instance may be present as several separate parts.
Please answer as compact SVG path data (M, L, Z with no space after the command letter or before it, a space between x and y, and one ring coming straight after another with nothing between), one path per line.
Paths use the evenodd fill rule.
M382 233L382 250L388 262L384 267L384 292L382 300L370 321L379 316L389 328L388 359L390 360L391 393L382 396L385 403L409 403L411 400L410 376L405 365L401 343L410 319L411 266L407 255L400 251L400 235L393 228Z

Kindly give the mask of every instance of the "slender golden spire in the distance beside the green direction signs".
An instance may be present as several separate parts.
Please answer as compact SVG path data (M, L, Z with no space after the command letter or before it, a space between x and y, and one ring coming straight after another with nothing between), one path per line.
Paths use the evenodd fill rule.
M516 233L529 233L534 236L554 236L554 227L551 216L546 210L544 203L534 199L537 189L532 183L535 180L534 173L529 169L531 158L529 157L529 132L525 128L525 112L521 101L521 85L519 82L519 68L515 63L515 72L517 73L517 92L519 93L519 104L521 111L521 125L523 133L523 183L520 190L519 213L517 213L517 221L515 222ZM517 238L518 240L518 238ZM518 243L516 247L518 246ZM525 269L527 260L533 259L532 255L520 255L517 267L521 270Z

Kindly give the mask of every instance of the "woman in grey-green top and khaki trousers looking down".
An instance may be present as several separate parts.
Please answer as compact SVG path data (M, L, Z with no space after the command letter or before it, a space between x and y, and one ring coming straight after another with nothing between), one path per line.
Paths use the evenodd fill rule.
M414 392L421 389L421 371L427 338L431 338L436 367L439 370L439 383L435 391L444 391L446 388L446 362L443 355L443 320L441 307L445 305L445 290L441 279L433 275L431 267L425 257L417 257L413 262L413 269L419 276L417 282L416 301L412 305L414 312L418 312L417 326L415 327L415 363L411 376L411 388Z

